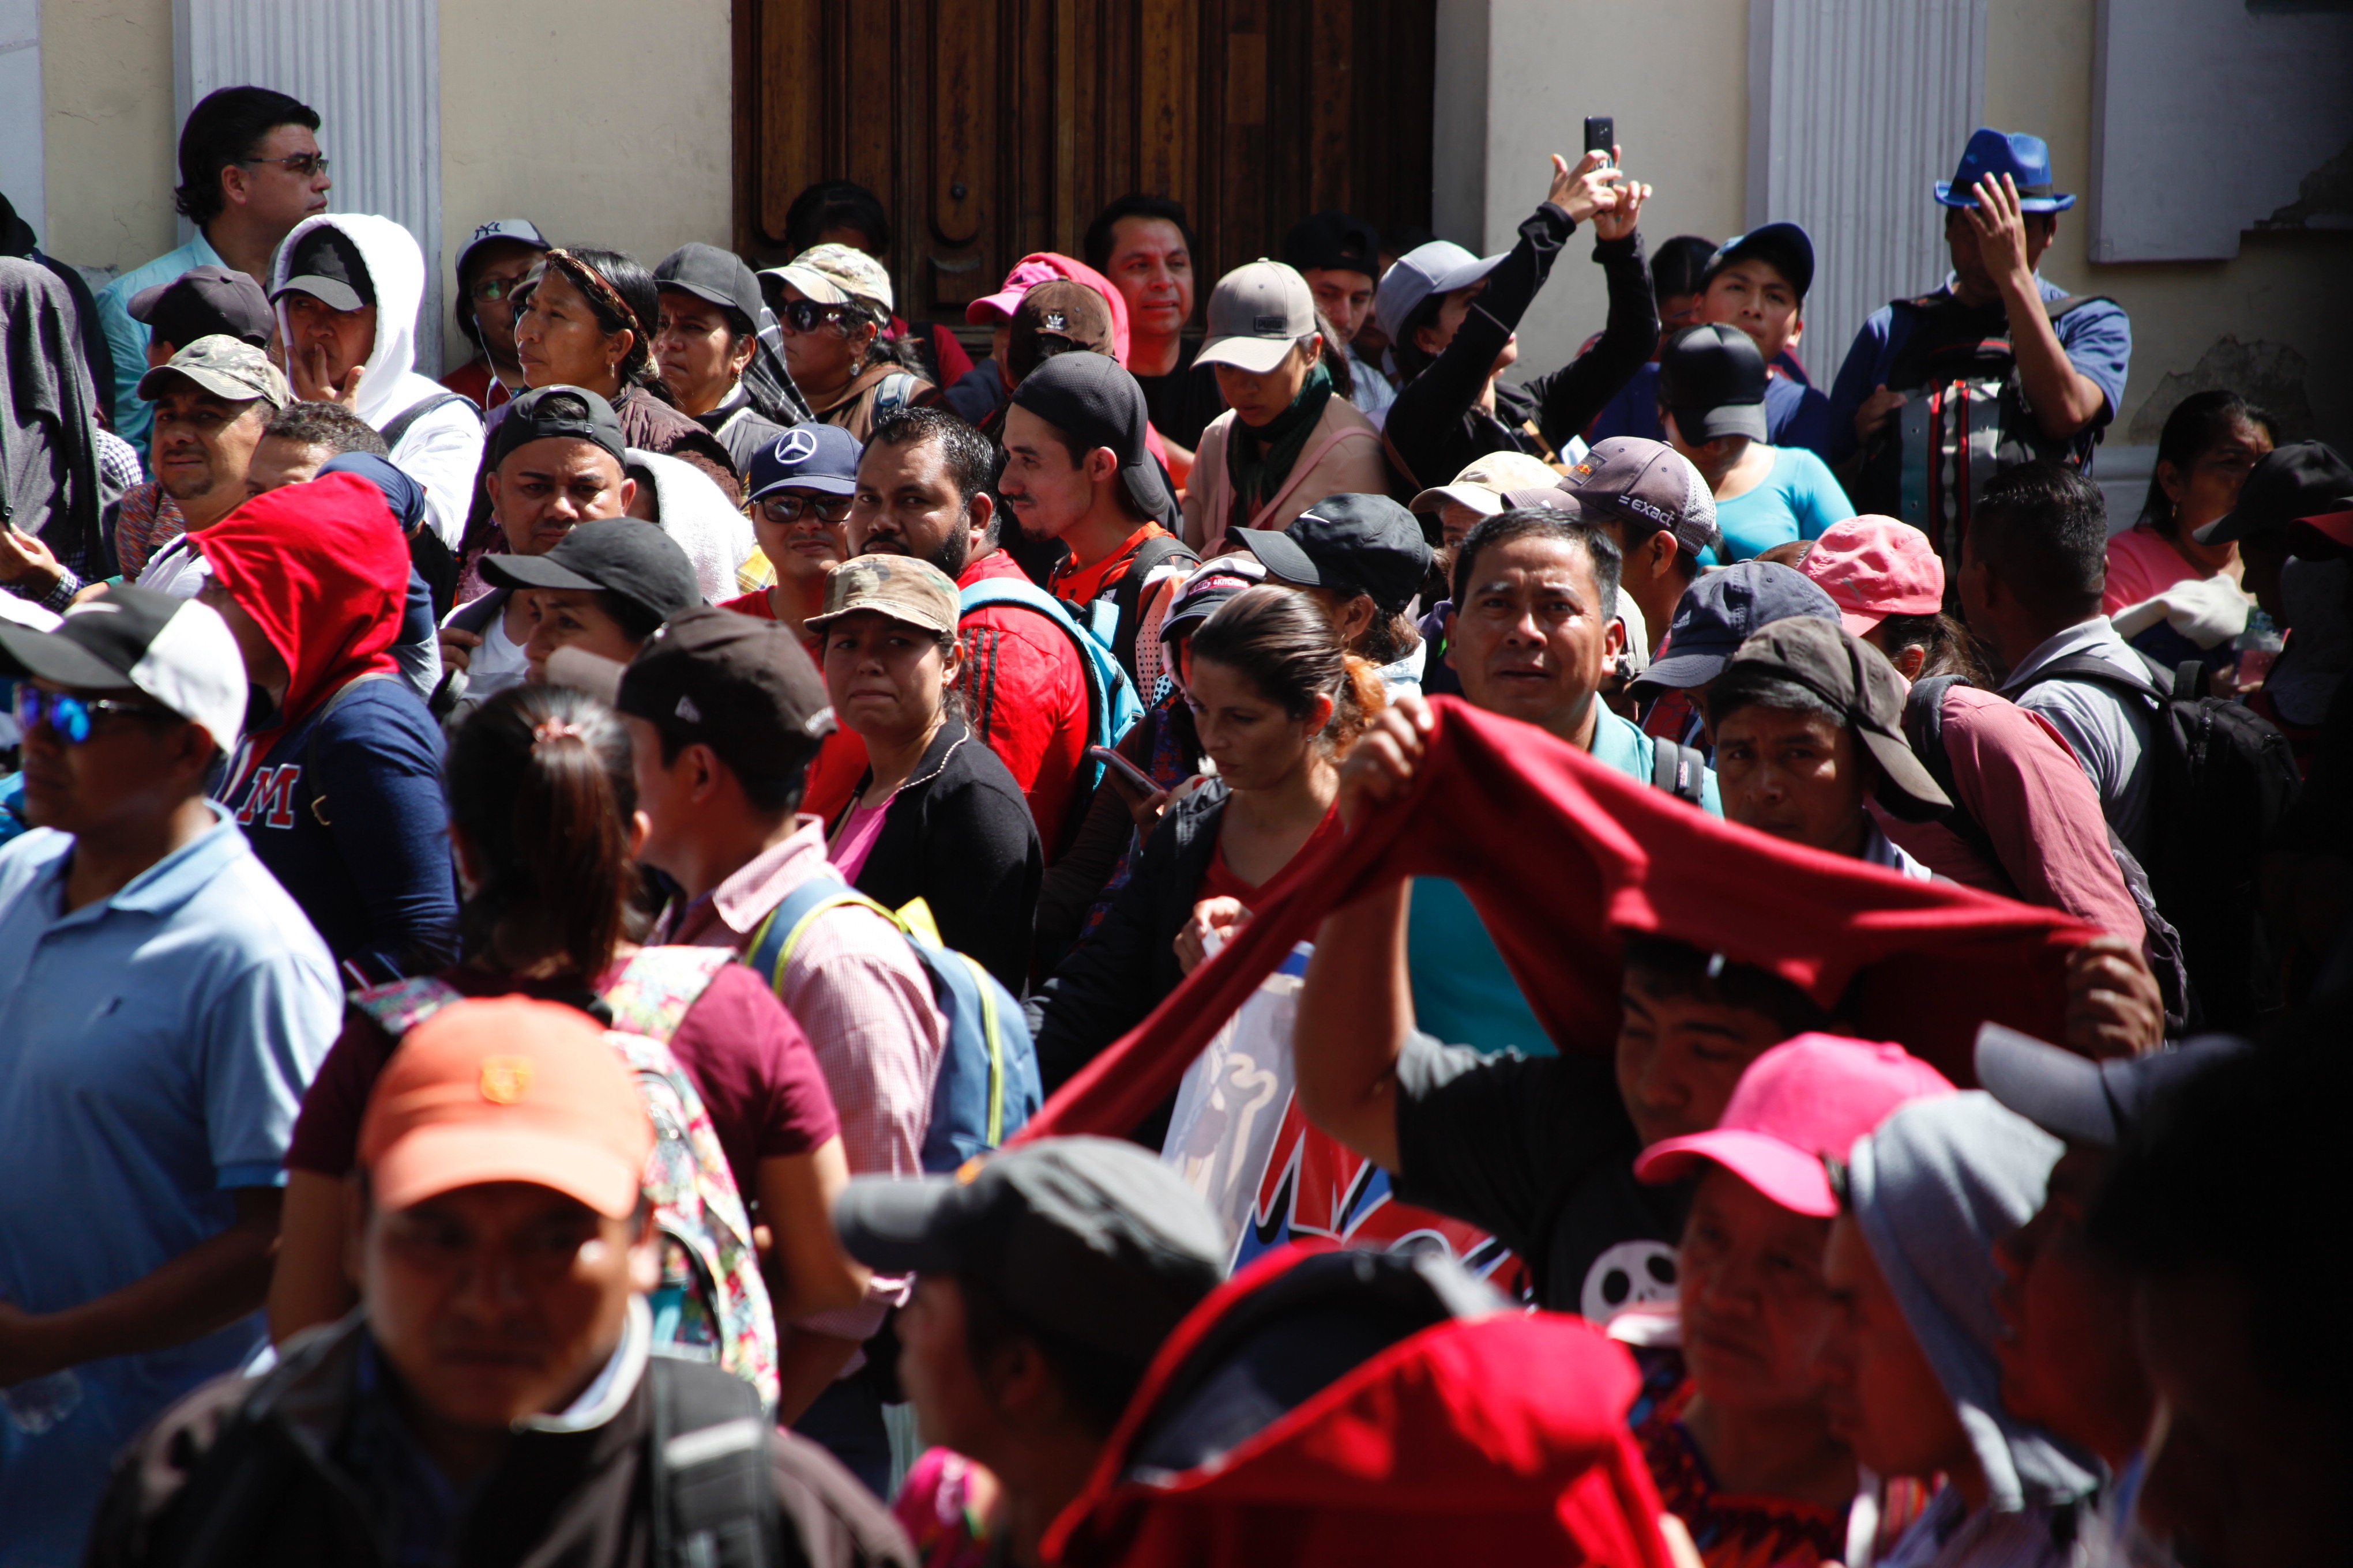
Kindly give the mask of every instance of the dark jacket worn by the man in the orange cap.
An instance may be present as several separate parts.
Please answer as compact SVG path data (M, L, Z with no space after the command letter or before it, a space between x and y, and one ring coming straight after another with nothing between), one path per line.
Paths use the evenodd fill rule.
M365 1338L351 1316L289 1342L261 1378L216 1378L165 1410L115 1462L85 1566L391 1568L376 1488L353 1467L365 1453L362 1401L381 1399L360 1392ZM652 1356L602 1425L518 1434L461 1528L459 1561L656 1568L647 1507L656 1378L732 1382L715 1366ZM769 1472L786 1563L913 1566L882 1505L816 1443L772 1434Z

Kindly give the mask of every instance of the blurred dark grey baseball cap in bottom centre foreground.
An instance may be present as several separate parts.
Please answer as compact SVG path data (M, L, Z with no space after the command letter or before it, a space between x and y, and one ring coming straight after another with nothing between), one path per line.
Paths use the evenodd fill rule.
M1233 1251L1200 1194L1120 1138L1040 1138L955 1175L859 1175L833 1229L871 1269L979 1276L1024 1321L1136 1363L1224 1284Z

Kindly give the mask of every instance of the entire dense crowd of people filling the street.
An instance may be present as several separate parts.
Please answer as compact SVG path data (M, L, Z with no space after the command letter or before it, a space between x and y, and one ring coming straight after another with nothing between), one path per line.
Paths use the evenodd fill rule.
M2111 529L2040 139L1821 390L1621 148L967 336L852 183L489 219L433 381L332 132L0 214L0 1568L2339 1561L2353 468L2198 393ZM1242 997L1480 1246L1162 1154Z

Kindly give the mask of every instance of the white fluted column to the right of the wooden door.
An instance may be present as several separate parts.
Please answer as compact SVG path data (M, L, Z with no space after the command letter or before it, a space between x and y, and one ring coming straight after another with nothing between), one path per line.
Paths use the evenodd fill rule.
M1828 388L1864 317L1944 282L1944 209L1986 101L1986 0L1751 0L1748 228L1802 223L1800 357Z

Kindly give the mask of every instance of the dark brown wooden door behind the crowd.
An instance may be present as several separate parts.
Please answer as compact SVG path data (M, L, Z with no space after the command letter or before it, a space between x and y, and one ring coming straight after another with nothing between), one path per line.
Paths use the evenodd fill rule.
M1431 216L1435 0L736 0L736 247L852 179L899 313L962 324L1024 254L1174 195L1219 273L1311 212Z

